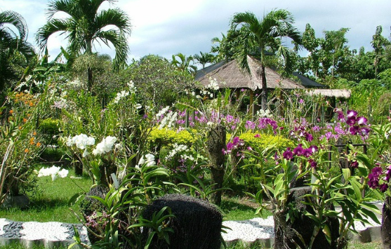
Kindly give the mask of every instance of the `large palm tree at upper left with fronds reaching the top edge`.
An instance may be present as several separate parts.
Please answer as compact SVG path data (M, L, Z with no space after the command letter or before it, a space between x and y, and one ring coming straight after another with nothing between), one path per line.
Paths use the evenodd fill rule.
M124 11L109 8L98 11L103 2L112 0L56 0L48 6L48 22L37 33L37 43L43 51L48 38L56 32L66 33L69 39L67 51L70 54L92 53L93 42L102 41L114 46L114 68L126 65L128 43L126 36L131 34L131 23ZM55 13L67 13L68 18L54 18ZM88 90L93 83L93 72L88 68Z

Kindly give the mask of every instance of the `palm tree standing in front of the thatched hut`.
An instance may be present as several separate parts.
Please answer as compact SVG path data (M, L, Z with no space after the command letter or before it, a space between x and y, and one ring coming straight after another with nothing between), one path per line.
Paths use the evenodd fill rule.
M296 27L293 27L293 16L289 11L271 11L262 20L256 18L251 12L237 13L231 20L231 30L241 31L242 43L238 47L234 57L239 67L249 73L247 55L251 51L260 52L261 67L258 70L262 78L262 108L266 109L267 84L265 76L265 51L277 51L277 56L284 58L284 69L286 72L292 70L293 56L289 48L283 45L282 38L290 38L293 43L301 43L301 35ZM240 26L239 26L240 25Z

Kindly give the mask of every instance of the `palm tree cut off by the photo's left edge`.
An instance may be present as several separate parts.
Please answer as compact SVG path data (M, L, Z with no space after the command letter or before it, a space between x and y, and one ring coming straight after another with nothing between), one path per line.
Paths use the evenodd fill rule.
M11 27L15 27L16 34ZM11 81L18 81L18 69L25 70L32 58L34 48L27 43L28 28L22 15L14 11L0 13L0 92ZM22 74L22 73L21 73Z

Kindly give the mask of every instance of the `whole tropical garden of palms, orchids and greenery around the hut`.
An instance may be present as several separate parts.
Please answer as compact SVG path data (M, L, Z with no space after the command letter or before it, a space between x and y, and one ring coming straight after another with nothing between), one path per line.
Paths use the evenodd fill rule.
M178 207L145 211L168 195L227 219L272 215L274 248L349 248L354 222L371 220L390 248L391 41L382 27L373 51L357 51L347 46L347 28L321 37L310 24L300 32L289 11L237 13L226 34L211 38L211 51L129 63L130 18L119 8L100 11L103 2L52 1L34 34L37 48L27 43L21 15L0 13L1 217L81 222L91 245L77 235L75 244L86 248L232 246L216 235L180 241ZM48 39L57 32L68 45L49 61ZM94 43L110 45L114 59L95 53ZM246 74L248 55L262 65L256 114L243 108L247 89L194 81L197 68L223 60L237 60ZM352 97L336 107L305 90L268 90L265 67L350 89ZM332 112L328 121L313 119L319 106ZM8 205L20 195L29 206ZM384 202L383 222L373 201ZM184 220L197 227L200 218ZM224 229L218 217L202 222ZM199 247L202 240L211 243Z

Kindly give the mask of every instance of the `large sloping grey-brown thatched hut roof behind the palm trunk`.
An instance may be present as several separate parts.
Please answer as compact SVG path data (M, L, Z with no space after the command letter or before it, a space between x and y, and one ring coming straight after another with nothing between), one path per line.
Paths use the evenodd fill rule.
M218 62L197 72L195 77L202 86L208 86L209 78L216 79L220 88L250 88L251 90L262 89L262 79L257 73L260 62L248 56L250 75L246 75L239 69L236 60L230 62ZM267 88L296 89L304 88L291 79L283 79L273 69L265 67Z

